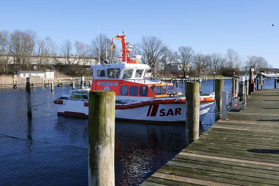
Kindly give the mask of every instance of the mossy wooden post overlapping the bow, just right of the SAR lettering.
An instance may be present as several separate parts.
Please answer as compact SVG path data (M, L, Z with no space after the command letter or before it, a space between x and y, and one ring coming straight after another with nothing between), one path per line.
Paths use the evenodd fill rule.
M200 94L198 82L185 83L186 98L186 146L198 139L200 118Z

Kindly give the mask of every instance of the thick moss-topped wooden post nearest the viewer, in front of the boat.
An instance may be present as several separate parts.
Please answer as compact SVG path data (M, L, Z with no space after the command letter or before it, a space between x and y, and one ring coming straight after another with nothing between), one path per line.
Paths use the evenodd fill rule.
M115 92L91 91L88 112L88 185L115 185Z

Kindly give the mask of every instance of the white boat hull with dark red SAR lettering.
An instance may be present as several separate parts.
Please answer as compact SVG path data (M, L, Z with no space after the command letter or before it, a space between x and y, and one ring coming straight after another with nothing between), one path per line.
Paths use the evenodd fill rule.
M203 121L214 101L200 103L200 118ZM58 115L88 117L88 101L63 100L57 105ZM115 109L115 120L141 123L185 124L186 106L181 104L154 104L137 108Z

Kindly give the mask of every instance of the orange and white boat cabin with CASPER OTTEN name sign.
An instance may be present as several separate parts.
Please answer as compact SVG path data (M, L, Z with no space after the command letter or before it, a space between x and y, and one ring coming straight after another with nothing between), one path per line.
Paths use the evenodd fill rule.
M181 95L173 83L144 79L150 69L144 64L103 64L92 65L93 81L91 90L111 90L116 96L134 96L137 99Z

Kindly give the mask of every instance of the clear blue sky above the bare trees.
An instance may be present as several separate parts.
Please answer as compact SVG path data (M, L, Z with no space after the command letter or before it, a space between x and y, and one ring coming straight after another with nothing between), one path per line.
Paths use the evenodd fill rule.
M279 1L15 0L0 6L0 30L32 29L58 45L65 39L90 44L100 25L108 37L126 29L130 43L155 35L173 50L224 54L227 47L246 57L253 47L253 55L279 68Z

